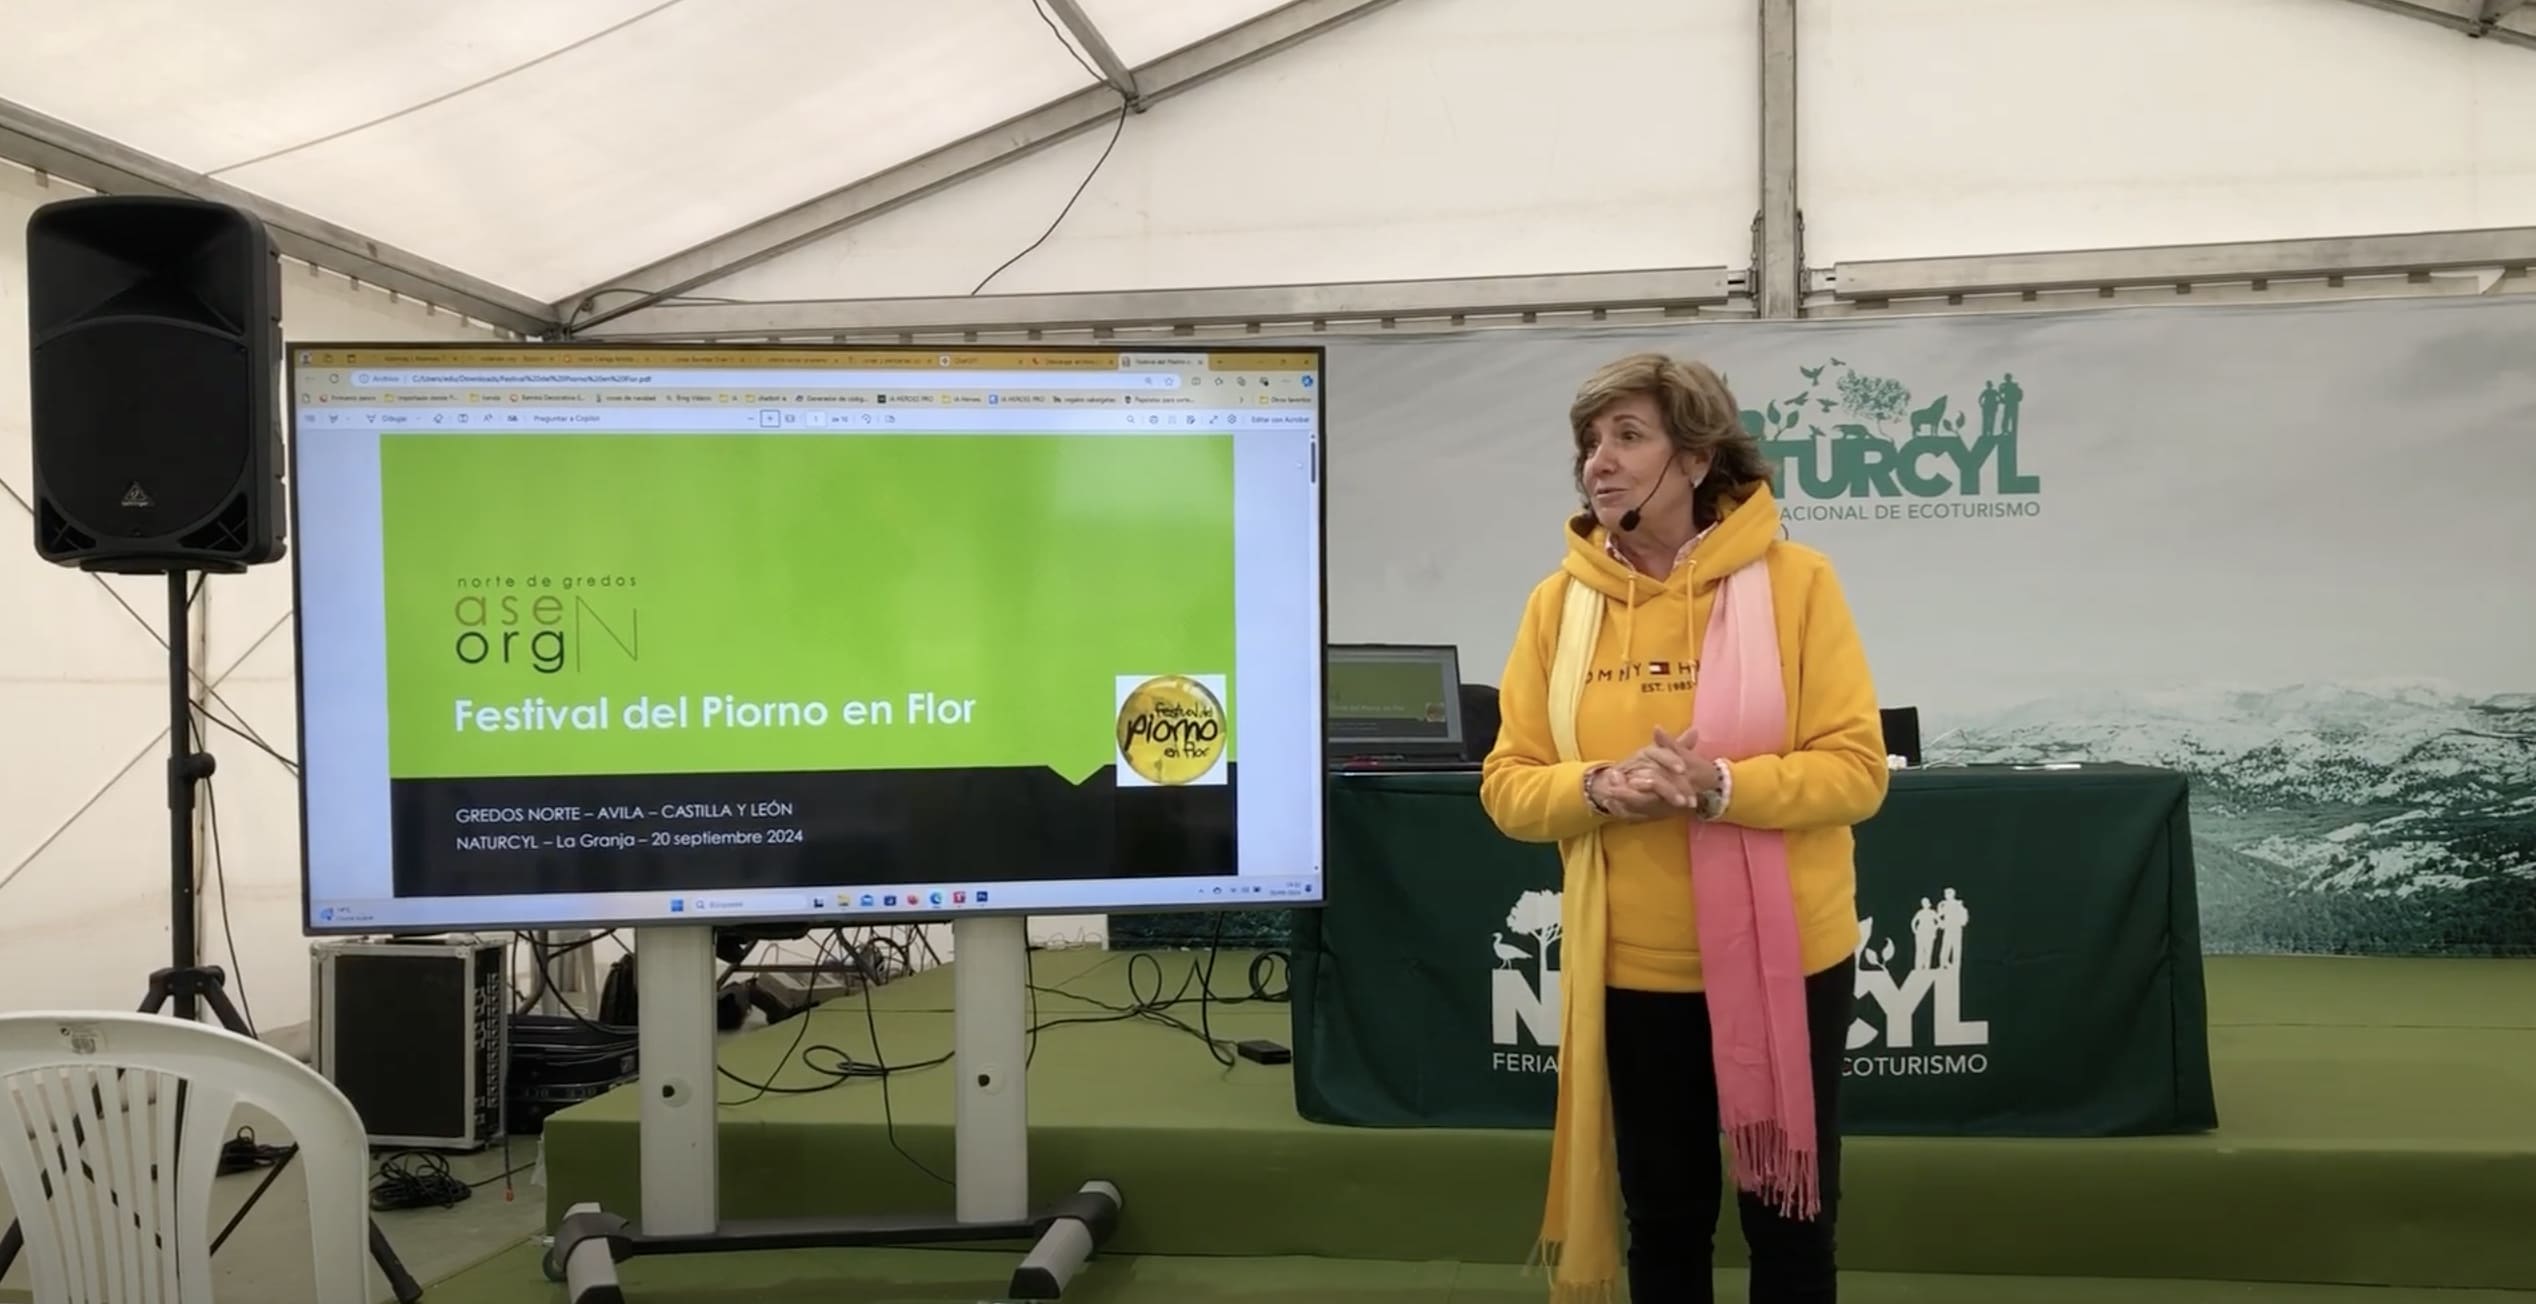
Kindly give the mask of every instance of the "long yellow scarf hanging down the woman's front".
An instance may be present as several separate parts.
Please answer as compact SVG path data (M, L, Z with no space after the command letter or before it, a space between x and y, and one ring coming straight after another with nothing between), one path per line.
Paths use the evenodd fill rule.
M1603 629L1603 594L1567 581L1560 647L1549 662L1549 738L1560 761L1582 761L1577 703ZM1603 1060L1603 949L1608 934L1603 835L1560 850L1560 1106L1549 1134L1549 1203L1539 1256L1555 1304L1613 1299L1621 1279L1621 1162L1613 1152Z

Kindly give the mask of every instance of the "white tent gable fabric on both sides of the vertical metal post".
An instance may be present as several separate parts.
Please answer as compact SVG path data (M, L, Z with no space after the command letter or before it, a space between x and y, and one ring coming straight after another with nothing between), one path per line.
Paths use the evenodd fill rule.
M1752 10L1382 8L1131 117L992 292L1747 266ZM1813 269L2536 223L2536 137L2518 129L2536 51L2361 5L1806 0L1795 46ZM1106 140L692 297L969 294L1047 228Z

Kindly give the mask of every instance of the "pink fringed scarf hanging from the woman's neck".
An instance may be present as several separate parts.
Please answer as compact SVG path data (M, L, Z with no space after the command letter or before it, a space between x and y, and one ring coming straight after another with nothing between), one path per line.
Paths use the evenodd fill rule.
M1709 609L1692 698L1699 751L1730 761L1785 751L1785 682L1770 566L1755 561L1719 584ZM1692 898L1735 1187L1783 1215L1813 1218L1813 1073L1785 835L1692 819Z

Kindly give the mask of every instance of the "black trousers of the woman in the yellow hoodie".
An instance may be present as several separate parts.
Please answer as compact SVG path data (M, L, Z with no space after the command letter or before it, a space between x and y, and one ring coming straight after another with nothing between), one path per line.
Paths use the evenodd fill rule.
M1823 1208L1811 1220L1780 1218L1770 1205L1737 1192L1752 1261L1752 1304L1839 1299L1834 1215L1841 1195L1841 1055L1856 1010L1851 964L1841 962L1806 979ZM1709 1066L1707 997L1613 989L1605 994L1605 1038L1621 1205L1628 1218L1628 1294L1633 1304L1709 1304L1724 1142L1717 1126L1717 1073Z

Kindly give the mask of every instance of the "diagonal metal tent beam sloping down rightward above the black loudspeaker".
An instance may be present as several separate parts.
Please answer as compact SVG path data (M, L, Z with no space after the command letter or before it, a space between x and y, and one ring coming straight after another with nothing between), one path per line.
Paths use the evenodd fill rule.
M101 195L185 195L254 213L292 259L464 312L520 335L555 330L553 310L492 282L441 266L421 254L373 241L236 185L190 173L162 157L117 145L96 132L0 99L0 157L56 175Z

